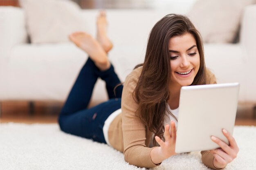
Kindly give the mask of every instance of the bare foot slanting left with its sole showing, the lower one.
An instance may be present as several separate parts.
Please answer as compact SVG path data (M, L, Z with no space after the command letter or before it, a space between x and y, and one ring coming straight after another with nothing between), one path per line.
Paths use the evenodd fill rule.
M90 34L74 32L69 35L69 39L74 42L76 46L88 53L89 57L101 71L105 71L110 68L110 62L106 52L103 50L99 42L93 39Z

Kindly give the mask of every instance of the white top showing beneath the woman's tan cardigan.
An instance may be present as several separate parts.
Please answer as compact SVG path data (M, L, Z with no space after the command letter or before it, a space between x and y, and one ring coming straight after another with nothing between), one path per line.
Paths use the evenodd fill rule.
M174 109L174 110L171 110L169 104L166 104L166 105L167 105L167 109L178 119L179 108L176 108L176 109ZM104 123L104 126L103 126L103 135L104 135L105 141L107 142L107 144L108 144L109 146L111 146L111 145L110 145L109 140L108 140L108 129L109 129L109 126L110 126L110 124L112 123L112 121L113 121L120 113L122 113L121 108L119 108L119 109L116 110L115 112L111 113L111 115L109 115L109 117L106 119L106 121L105 121L105 123ZM178 122L177 122L169 113L167 113L167 110L166 110L166 115L168 115L168 117L165 117L165 119L164 119L164 125L165 125L165 124L170 124L170 121L173 120L173 121L175 122L175 125L176 125L176 128L177 128ZM170 131L171 131L171 128L170 128ZM152 135L152 137L154 137L154 134ZM149 147L153 147L153 140L151 140Z

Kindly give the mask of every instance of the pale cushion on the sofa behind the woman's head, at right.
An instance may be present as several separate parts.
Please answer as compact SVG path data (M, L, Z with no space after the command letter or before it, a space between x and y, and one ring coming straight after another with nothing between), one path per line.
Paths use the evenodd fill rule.
M233 42L243 9L255 0L198 0L187 14L204 42Z

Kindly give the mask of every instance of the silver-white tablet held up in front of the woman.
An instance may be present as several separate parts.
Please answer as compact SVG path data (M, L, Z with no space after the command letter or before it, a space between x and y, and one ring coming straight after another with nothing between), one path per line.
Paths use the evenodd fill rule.
M220 148L211 140L212 135L229 144L222 129L233 134L238 93L239 83L183 86L175 152Z

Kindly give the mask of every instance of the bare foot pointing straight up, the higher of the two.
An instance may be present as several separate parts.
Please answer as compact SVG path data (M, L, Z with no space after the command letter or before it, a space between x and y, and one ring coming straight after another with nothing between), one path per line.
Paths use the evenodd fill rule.
M108 39L106 28L107 20L105 11L100 11L97 17L97 40L101 44L102 48L108 53L113 47L112 42Z

